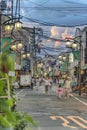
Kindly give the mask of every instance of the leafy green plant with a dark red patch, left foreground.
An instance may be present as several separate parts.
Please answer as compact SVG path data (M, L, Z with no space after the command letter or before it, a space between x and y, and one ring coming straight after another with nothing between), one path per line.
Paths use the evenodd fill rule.
M19 113L13 109L16 99L13 96L12 80L15 77L8 76L9 70L14 70L13 66L8 53L0 55L0 130L25 130L28 123L30 126L37 126L27 113Z

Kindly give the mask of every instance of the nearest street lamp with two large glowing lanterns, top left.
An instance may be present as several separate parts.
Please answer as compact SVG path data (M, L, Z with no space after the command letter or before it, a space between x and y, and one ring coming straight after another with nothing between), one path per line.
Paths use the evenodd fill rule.
M13 7L13 4L16 4L15 9ZM5 1L5 5L8 5L7 1ZM14 29L19 30L22 27L22 23L20 22L20 0L17 0L15 3L13 2L13 0L10 1L10 11L8 12L8 14L5 14L6 7L4 8L4 10L3 7L4 5L0 9L0 53L2 53L2 27L4 28L5 32L11 34ZM2 20L3 17L6 17L6 19Z

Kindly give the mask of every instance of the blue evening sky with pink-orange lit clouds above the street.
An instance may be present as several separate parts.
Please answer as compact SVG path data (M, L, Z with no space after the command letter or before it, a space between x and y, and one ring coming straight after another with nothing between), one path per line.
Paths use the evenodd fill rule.
M76 27L87 25L87 0L22 0L21 15L23 22L38 23L47 36L72 38ZM43 44L57 48L65 43L44 39Z

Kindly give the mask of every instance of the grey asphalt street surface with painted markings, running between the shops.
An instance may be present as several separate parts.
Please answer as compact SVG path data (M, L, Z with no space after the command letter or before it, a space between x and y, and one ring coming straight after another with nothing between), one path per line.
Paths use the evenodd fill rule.
M49 95L45 95L43 86L38 91L17 90L17 109L27 112L38 123L39 128L34 130L86 130L87 98L72 95L69 100L57 100L55 91L56 86Z

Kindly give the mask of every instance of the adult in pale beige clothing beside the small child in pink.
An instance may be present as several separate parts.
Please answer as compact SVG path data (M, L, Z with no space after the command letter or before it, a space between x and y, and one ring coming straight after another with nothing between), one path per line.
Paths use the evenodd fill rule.
M65 80L65 84L64 84L64 91L65 91L65 98L69 99L70 97L70 92L71 92L71 78L68 77L66 80Z

